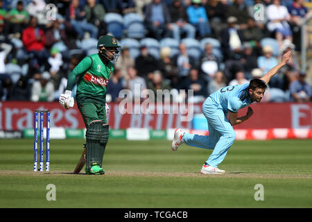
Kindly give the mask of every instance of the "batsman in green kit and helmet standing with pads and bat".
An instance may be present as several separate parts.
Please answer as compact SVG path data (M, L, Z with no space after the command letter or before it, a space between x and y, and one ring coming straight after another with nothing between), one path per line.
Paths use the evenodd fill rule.
M78 164L86 163L87 174L105 173L102 163L109 130L106 119L107 104L105 103L107 83L114 70L112 62L119 57L120 46L113 36L104 35L99 38L97 47L98 53L86 56L71 71L66 90L60 95L59 100L62 107L73 108L74 100L71 97L71 90L78 78L76 101L87 128L85 159L82 155L83 159L80 159ZM82 167L80 165L80 169Z

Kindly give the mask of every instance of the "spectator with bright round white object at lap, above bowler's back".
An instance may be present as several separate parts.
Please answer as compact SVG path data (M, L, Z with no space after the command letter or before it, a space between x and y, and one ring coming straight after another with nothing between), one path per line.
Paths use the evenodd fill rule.
M205 80L209 81L219 70L218 59L212 53L213 46L205 44L205 54L200 57L200 74Z

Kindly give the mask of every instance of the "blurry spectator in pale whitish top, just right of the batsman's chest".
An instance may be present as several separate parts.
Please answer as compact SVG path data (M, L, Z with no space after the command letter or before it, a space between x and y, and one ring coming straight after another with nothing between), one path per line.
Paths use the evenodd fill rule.
M132 99L140 99L141 93L146 89L146 81L144 78L137 76L135 67L128 67L128 75L125 76L125 88L132 92Z

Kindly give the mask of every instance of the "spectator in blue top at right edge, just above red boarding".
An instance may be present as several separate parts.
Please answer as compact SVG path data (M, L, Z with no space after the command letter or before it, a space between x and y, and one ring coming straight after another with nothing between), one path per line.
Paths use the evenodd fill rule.
M298 79L293 81L289 86L291 92L291 100L296 102L311 101L311 85L306 83L306 74L302 71L298 73Z

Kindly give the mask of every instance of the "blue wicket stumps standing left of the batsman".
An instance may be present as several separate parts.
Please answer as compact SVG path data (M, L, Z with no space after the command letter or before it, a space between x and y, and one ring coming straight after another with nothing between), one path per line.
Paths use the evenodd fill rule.
M38 123L40 123L40 168L44 171L44 113L46 113L46 171L50 170L50 110L36 110L34 117L34 162L33 171L37 171L38 161ZM39 119L38 119L39 114Z

